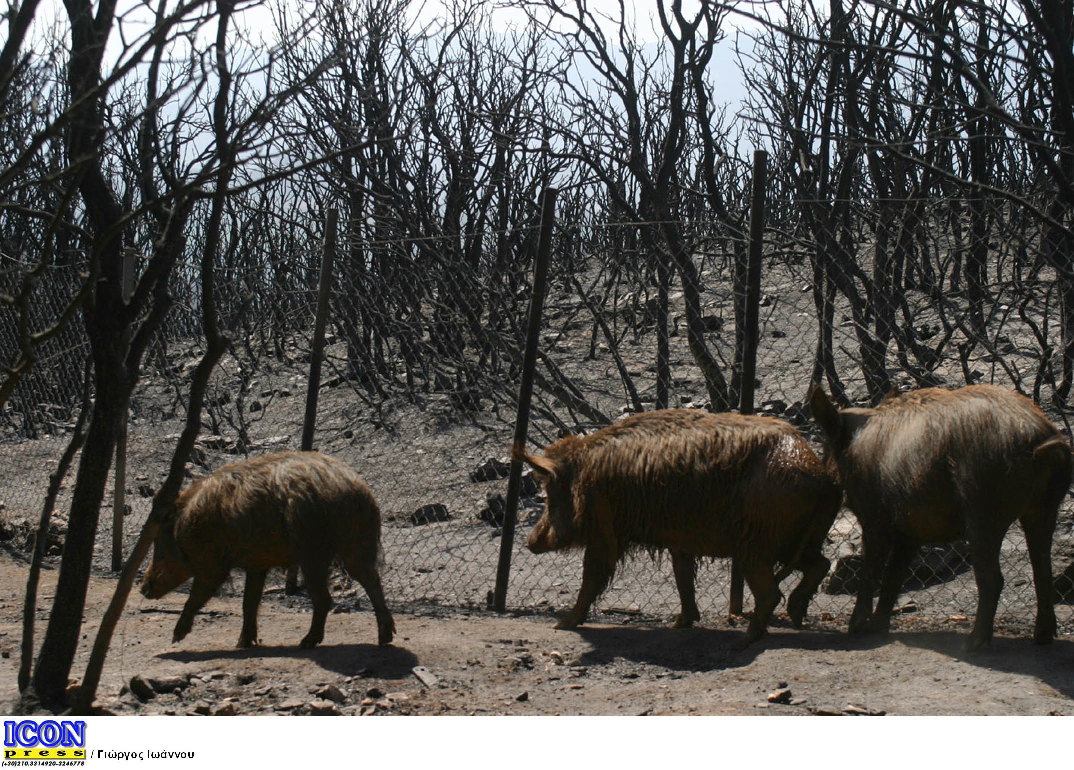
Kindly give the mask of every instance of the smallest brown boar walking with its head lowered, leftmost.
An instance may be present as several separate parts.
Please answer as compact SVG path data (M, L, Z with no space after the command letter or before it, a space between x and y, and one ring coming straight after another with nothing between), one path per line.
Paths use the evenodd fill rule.
M142 593L159 599L194 579L175 625L173 641L179 641L232 568L241 567L246 590L238 646L252 646L265 575L297 565L314 601L302 646L313 648L324 638L336 556L373 602L377 640L390 643L395 623L377 573L380 510L369 488L345 464L317 452L266 454L224 466L179 495L161 523Z

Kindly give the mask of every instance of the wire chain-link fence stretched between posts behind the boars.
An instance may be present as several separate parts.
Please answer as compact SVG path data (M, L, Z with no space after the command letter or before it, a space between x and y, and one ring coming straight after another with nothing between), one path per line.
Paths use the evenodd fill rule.
M1061 388L1054 271L1034 246L1039 239L1016 232L1013 217L998 215L1002 227L989 245L987 281L977 276L968 284L959 260L969 259L969 249L941 226L950 205L918 206L910 243L894 229L886 239L858 233L852 252L846 237L831 239L842 249L833 253L825 250L831 244L799 229L767 231L756 351L759 412L790 422L819 451L802 406L814 379L853 403L874 403L889 387L993 382L1047 406ZM684 235L688 265L662 234L668 224ZM1006 237L996 234L1004 232ZM378 232L367 221L340 224L315 446L350 463L376 494L384 520L386 591L395 604L483 608L493 590L534 239L528 226L419 239ZM247 453L297 449L318 249L314 242L293 245L287 271L259 265L222 277L234 345L215 375L192 473ZM722 222L558 221L531 445L641 409L737 407L746 352L745 253L739 231ZM880 266L866 274L860 264ZM130 533L144 521L166 471L182 430L186 383L201 352L197 302L178 275L180 302L147 357L131 403ZM57 286L66 287L56 290L62 303L74 286ZM88 352L82 335L73 324L54 349L45 349L0 416L0 500L11 538L35 521L50 464L73 423ZM10 360L13 339L0 337L3 360ZM1047 410L1069 435L1065 412ZM532 479L524 481L508 605L563 608L577 595L581 553L538 557L525 550L541 500ZM61 497L61 511L63 505ZM17 524L21 520L25 525ZM103 568L111 533L107 517L101 521ZM1074 557L1071 529L1064 504L1055 540L1057 575ZM858 543L854 519L843 511L827 543L832 571L811 612L850 611ZM1000 615L1027 620L1035 599L1017 526L1007 534L1002 561ZM702 613L726 611L728 584L727 562L701 566ZM972 613L975 601L964 546L923 549L901 604L950 615ZM678 597L669 560L641 554L627 561L598 607L673 614ZM1060 605L1059 616L1070 629L1069 605Z

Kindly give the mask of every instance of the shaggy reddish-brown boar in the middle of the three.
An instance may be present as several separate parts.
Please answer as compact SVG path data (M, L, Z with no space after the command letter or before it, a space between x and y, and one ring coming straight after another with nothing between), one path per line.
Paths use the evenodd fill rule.
M745 646L759 639L783 598L779 583L801 569L787 601L800 626L828 572L821 547L840 493L798 432L767 417L669 409L634 415L592 435L550 445L537 457L517 448L548 496L526 547L534 553L584 548L582 589L556 628L575 628L634 549L667 549L682 612L700 618L698 556L742 565L756 609ZM784 565L773 575L775 564Z

